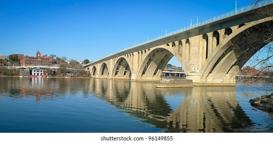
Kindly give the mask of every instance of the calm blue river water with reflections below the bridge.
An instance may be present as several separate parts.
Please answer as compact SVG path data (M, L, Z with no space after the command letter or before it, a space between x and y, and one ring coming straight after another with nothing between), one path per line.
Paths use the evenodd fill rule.
M273 132L273 115L248 103L273 87L156 84L0 77L0 132Z

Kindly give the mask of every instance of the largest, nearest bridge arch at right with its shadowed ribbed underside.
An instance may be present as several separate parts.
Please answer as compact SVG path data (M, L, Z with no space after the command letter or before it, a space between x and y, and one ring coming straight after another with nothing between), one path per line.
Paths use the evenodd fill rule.
M267 38L264 37L266 35L264 31L270 32L267 29L268 27L264 26L273 27L273 18L269 17L246 23L223 39L202 65L200 81L224 82L224 80L228 80L230 83L235 83L235 77L242 66L268 43L268 41L262 42L264 38ZM249 35L249 33L252 34ZM253 35L257 35L255 36L256 39L249 43L248 37ZM270 40L273 41L273 39ZM210 74L211 76L208 79ZM225 78L226 75L229 75L229 78Z

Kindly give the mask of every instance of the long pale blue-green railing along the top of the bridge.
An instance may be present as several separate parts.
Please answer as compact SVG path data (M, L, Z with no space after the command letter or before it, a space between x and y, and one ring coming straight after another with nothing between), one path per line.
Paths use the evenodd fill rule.
M265 6L265 5L269 5L273 3L273 0L261 0L259 1L258 3L253 3L253 4L249 4L247 6L244 6L244 7L241 7L241 8L237 8L235 10L232 10L230 12L226 12L226 13L223 13L223 14L220 14L220 15L217 15L217 16L214 16L210 19L207 19L207 20L203 20L203 21L200 21L198 23L195 23L191 26L188 26L188 27L185 27L185 28L181 28L181 29L178 29L176 31L173 31L173 32L170 32L170 33L166 33L164 35L161 35L161 36L158 36L158 37L155 37L153 39L150 39L150 40L147 40L147 41L144 41L144 42L141 42L141 43L138 43L138 44L135 44L135 45L132 45L132 46L129 46L129 47L126 47L125 49L123 50L120 50L118 52L115 52L113 54L110 54L108 56L105 56L103 58L100 58L96 61L99 61L99 60L102 60L106 57L109 57L109 56L113 56L113 55L116 55L120 52L123 52L123 51L127 51L129 49L133 49L134 47L138 47L138 46L141 46L141 45L144 45L144 44L147 44L147 43L150 43L150 42L153 42L153 41L156 41L156 40L159 40L159 39L162 39L162 38L165 38L165 37L168 37L168 36L171 36L171 35L174 35L174 34L177 34L177 33L181 33L181 32L184 32L184 31L187 31L187 30L190 30L190 29L193 29L193 28L196 28L196 27L199 27L199 26L203 26L203 25L206 25L208 23L211 23L211 22L214 22L214 21L217 21L217 20L221 20L221 19L224 19L224 18L227 18L227 17L230 17L230 16L233 16L233 15L236 15L236 14L239 14L239 13L242 13L242 12L246 12L246 11L249 11L249 10L253 10L253 9L256 9L256 8L259 8L259 7L262 7L262 6ZM96 62L96 61L93 61L93 62ZM93 62L91 62L90 64L92 64Z

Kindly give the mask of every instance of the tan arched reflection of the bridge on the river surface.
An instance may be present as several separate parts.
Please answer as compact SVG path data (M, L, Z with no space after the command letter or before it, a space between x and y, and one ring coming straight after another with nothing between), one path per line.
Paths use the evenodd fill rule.
M235 87L157 89L154 83L91 79L89 89L131 116L167 132L227 132L253 123L235 98ZM179 97L180 101L168 101ZM172 108L172 102L178 102Z

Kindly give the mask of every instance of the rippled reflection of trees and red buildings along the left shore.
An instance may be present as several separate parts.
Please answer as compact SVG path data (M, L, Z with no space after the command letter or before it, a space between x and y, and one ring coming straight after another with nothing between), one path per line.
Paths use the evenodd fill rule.
M65 78L0 78L0 94L12 98L35 98L35 101L64 99L67 93L86 96L89 80Z

